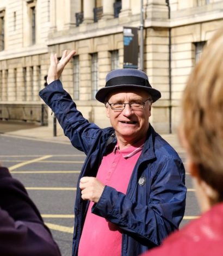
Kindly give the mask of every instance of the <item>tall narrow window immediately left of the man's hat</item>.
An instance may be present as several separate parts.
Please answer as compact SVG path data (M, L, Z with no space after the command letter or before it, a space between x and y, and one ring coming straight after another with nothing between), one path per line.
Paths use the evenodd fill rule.
M97 53L91 54L91 99L95 100L98 90L98 58Z

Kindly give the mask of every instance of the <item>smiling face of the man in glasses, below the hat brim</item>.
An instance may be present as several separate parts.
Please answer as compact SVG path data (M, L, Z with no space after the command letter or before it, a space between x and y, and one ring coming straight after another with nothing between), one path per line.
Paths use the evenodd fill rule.
M141 90L128 90L128 92L111 93L108 103L133 103L145 102L150 98L147 92ZM148 118L151 115L151 102L146 101L144 108L133 110L126 105L122 111L111 109L107 103L107 117L111 126L115 129L117 139L125 139L128 142L137 142L146 136L148 130Z

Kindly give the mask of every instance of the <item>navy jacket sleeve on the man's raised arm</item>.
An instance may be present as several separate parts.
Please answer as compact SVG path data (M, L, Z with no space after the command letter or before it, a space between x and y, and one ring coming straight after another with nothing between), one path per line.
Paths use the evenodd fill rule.
M103 130L83 117L59 80L48 84L39 95L54 112L73 147L87 154L95 137Z

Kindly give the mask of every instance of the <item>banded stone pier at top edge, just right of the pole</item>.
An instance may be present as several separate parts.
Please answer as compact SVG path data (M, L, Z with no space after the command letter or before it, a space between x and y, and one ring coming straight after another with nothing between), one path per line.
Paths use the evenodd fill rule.
M146 19L168 19L168 6L165 0L151 0L146 7Z

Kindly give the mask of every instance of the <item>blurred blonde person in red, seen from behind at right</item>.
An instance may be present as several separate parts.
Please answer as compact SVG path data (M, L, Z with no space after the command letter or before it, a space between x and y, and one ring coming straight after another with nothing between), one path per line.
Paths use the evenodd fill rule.
M223 255L223 28L191 73L182 99L179 138L202 215L145 253Z

